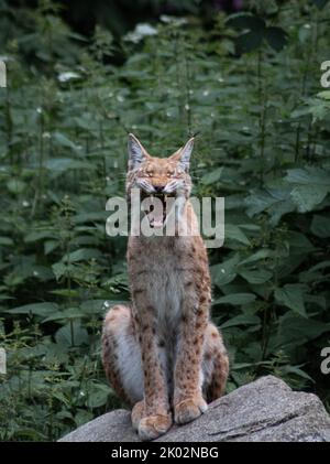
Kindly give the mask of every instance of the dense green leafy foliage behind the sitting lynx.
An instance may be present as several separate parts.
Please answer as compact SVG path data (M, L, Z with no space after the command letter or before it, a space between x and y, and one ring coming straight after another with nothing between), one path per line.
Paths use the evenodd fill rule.
M100 28L91 43L73 34L48 1L15 19L1 51L1 440L55 440L118 406L100 328L130 298L125 239L105 233L106 201L124 191L127 131L161 155L200 132L194 194L226 197L210 262L228 391L272 373L329 407L329 4L267 3L240 17L250 26L165 17L120 45ZM261 21L257 46L238 50Z

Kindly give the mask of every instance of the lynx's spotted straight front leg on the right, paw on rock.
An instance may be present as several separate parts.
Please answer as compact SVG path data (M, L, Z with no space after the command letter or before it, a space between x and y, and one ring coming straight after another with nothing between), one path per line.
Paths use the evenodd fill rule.
M187 284L183 305L182 334L175 366L174 413L175 422L183 424L207 410L202 398L201 360L210 294L194 283Z

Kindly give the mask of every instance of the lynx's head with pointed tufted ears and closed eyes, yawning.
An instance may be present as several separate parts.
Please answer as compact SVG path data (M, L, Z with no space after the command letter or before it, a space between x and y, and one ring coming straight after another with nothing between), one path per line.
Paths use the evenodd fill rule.
M151 215L152 227L163 227L166 222L166 203L168 198L189 197L191 179L189 175L189 161L194 147L194 138L168 158L155 158L147 153L142 143L132 133L129 136L129 170L127 176L127 193L132 188L139 188L141 199L154 198L162 202L162 214L157 214L156 207ZM156 202L155 202L156 203Z

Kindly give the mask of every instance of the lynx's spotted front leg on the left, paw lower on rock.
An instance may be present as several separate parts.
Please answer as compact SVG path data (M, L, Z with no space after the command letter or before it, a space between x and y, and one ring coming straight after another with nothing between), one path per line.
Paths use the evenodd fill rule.
M134 320L141 346L144 373L144 399L140 406L141 419L136 423L141 440L154 440L172 425L167 381L158 356L155 309L145 304L142 292L136 298Z

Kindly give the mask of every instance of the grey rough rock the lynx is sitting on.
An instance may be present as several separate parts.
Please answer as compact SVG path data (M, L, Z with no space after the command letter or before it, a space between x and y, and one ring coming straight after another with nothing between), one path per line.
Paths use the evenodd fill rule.
M65 435L63 442L136 442L130 412L116 410ZM318 397L267 376L209 404L196 421L174 425L160 442L330 441L330 416Z

